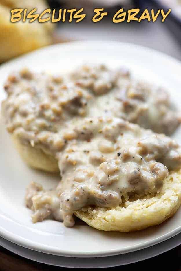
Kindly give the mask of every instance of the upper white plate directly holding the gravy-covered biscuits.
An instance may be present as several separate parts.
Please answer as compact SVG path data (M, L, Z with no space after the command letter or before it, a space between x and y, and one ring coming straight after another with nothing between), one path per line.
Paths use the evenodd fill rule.
M159 52L117 42L75 42L54 45L24 55L0 67L0 95L7 74L28 66L36 71L61 72L84 62L126 65L134 76L146 78L170 89L173 101L181 102L181 64ZM175 134L180 143L180 129ZM141 232L102 232L85 224L65 228L62 223L46 220L33 224L31 211L25 208L26 186L33 180L45 187L56 186L58 177L29 169L14 150L1 120L0 134L0 235L13 243L36 251L68 257L102 257L143 249L181 232L181 209L160 226Z

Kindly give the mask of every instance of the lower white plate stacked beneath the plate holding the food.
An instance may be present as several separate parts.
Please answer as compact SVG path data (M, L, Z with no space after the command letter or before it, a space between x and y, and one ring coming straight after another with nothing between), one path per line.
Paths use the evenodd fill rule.
M1 246L22 257L33 261L38 261L40 263L69 268L107 268L126 265L129 263L136 263L138 261L143 261L162 254L170 249L175 248L176 246L179 246L180 244L181 234L178 234L167 241L135 252L97 258L71 258L70 261L70 257L61 257L37 252L15 245L14 243L11 243L0 237Z

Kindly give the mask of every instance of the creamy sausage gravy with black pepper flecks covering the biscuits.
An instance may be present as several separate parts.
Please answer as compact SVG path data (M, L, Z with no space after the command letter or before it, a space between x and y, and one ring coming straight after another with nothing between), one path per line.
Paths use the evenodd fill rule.
M55 191L30 184L34 222L52 215L73 226L74 211L84 206L116 207L159 193L168 170L181 165L176 142L140 127L167 134L178 127L167 92L132 80L125 69L85 65L65 77L22 70L5 90L8 131L54 155L62 177Z

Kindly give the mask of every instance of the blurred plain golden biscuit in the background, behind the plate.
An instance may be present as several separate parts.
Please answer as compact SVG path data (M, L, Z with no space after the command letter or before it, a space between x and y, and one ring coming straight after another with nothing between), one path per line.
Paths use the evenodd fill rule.
M25 6L25 8L30 9L32 6L31 9L37 7L39 10L47 7L46 2L40 0L34 1L34 3L32 1L21 2L0 0L0 63L52 43L52 30L54 28L52 23L10 22L10 10L14 7L23 8Z

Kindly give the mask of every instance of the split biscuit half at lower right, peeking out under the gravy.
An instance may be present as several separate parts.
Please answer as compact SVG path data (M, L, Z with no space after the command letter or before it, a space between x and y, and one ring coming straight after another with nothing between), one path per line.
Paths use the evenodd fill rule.
M158 225L181 204L181 170L171 172L160 193L126 201L116 208L87 207L75 215L98 230L130 232Z

